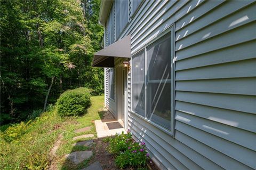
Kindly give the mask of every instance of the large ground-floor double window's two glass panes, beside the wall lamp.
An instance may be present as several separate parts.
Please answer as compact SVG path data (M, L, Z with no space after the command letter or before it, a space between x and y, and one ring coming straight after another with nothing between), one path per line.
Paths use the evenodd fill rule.
M132 56L132 111L172 131L172 35ZM146 101L145 101L146 100Z

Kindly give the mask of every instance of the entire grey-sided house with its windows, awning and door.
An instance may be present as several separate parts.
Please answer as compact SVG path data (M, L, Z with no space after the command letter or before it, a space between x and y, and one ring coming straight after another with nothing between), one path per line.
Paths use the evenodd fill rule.
M256 169L255 1L102 1L105 104L161 169Z

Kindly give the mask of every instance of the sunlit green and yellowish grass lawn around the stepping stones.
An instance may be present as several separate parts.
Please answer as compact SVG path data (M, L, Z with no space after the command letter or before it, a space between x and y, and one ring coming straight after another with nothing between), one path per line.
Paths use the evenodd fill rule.
M6 134L0 132L0 169L47 169L54 164L57 169L77 169L86 166L73 166L67 162L65 155L73 151L87 150L87 147L73 147L74 136L94 134L93 120L100 119L104 96L92 96L92 106L80 117L60 117L55 109L44 112L33 120L26 128L19 128L22 135L12 142L3 140ZM75 129L91 126L90 131L74 133ZM54 143L62 135L61 144L56 156L50 155ZM88 138L87 138L88 139ZM84 139L82 139L84 140Z

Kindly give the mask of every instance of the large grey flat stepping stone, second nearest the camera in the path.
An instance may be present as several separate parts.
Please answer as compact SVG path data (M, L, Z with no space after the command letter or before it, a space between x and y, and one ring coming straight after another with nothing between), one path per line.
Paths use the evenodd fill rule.
M77 151L67 154L65 157L74 164L82 163L84 160L92 156L92 151Z

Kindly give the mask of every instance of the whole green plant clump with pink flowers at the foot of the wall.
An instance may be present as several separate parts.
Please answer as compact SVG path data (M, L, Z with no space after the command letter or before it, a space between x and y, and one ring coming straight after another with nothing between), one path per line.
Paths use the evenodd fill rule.
M110 138L108 150L116 155L115 163L119 168L144 168L149 159L146 144L133 141L130 132L116 134L115 138Z

